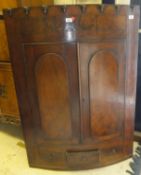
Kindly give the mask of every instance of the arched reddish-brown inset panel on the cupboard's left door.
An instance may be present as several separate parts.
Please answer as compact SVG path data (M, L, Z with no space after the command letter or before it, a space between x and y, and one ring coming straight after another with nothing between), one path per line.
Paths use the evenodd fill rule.
M72 135L66 65L57 54L41 56L35 67L41 126L49 139Z

